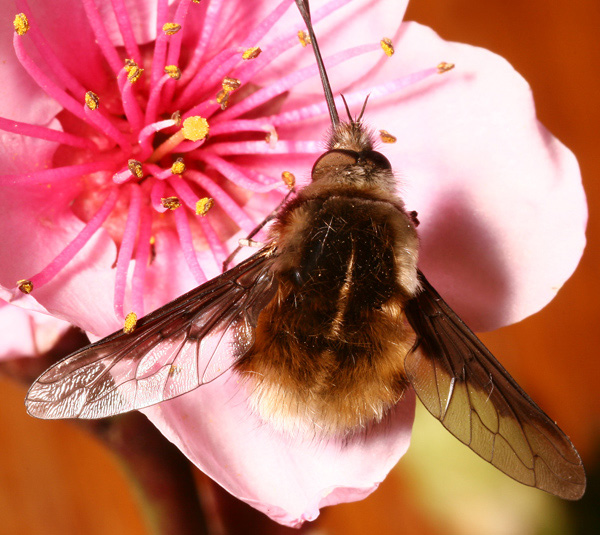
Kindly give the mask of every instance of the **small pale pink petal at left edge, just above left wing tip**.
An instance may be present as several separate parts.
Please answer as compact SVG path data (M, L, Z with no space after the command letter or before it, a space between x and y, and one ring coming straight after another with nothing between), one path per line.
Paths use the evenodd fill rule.
M65 321L0 300L0 360L38 357L69 327Z

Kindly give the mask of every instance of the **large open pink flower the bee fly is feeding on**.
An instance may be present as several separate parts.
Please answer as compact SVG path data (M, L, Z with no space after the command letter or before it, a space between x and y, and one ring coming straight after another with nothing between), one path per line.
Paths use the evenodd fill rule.
M292 4L16 1L29 31L21 18L23 35L0 42L0 297L101 336L218 273L285 192L282 171L306 182L323 150L328 118ZM312 3L334 91L355 113L371 94L367 122L397 138L380 150L419 212L420 265L440 293L476 330L519 321L581 256L577 162L536 121L510 65L401 24L405 7ZM441 61L457 68L438 76ZM176 111L207 119L210 137L182 141ZM169 197L182 206L165 208ZM215 206L196 215L205 197ZM24 279L28 295L16 290ZM227 490L299 525L377 487L408 447L413 409L407 395L364 440L292 440L249 411L226 373L143 412Z

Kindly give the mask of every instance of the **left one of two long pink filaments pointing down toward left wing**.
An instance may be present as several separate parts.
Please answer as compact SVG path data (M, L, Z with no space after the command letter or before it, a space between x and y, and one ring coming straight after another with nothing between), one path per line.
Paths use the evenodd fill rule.
M131 184L129 210L125 220L125 229L121 238L121 246L117 254L117 271L115 274L114 309L117 318L123 317L123 303L125 301L125 287L127 285L127 272L133 255L135 237L140 224L142 208L142 191L137 184Z

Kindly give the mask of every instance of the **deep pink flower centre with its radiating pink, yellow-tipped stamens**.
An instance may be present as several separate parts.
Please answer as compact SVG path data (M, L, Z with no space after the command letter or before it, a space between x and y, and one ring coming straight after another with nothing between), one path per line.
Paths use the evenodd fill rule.
M313 20L318 22L347 2L330 2L313 14ZM14 20L15 52L44 92L62 106L63 131L2 118L0 128L55 141L69 150L57 150L51 170L10 179L13 184L40 185L71 180L70 209L83 225L46 268L19 281L22 292L52 280L103 228L118 246L115 312L121 319L125 310L141 316L147 268L160 261L155 251L163 231L175 231L187 266L200 284L207 279L206 272L216 274L227 257L224 242L237 230L247 235L258 223L247 209L248 200L277 193L264 207L267 214L273 200L282 197L286 183L291 183L286 157L304 154L310 159L321 152L320 132L315 139L297 139L293 126L325 115L322 99L285 111L274 104L303 80L317 76L316 67L300 68L262 87L253 83L281 54L294 47L302 51L310 44L299 19L279 37L265 37L292 0L281 2L254 27L238 29L233 44L217 43L220 46L215 46L213 35L224 24L221 1L207 1L201 7L195 0L182 0L171 14L166 2L159 3L161 30L152 43L140 44L124 2L115 0L112 5L123 43L115 46L94 2L82 0L95 41L114 74L98 81L104 89L97 92L69 73L46 46L43 23L38 26L26 1L21 4L26 10ZM193 9L203 11L192 13ZM340 52L328 58L328 67L379 46L373 43ZM383 40L381 46L386 54L393 53L391 41ZM45 66L33 57L41 58ZM346 100L355 105L369 91L377 92L376 96L389 94L435 72L436 68L427 69L380 88L351 93ZM281 131L289 139L280 139ZM271 172L259 171L257 158L276 161L281 168L273 173L276 166L271 163L267 166ZM203 252L207 254L201 263Z

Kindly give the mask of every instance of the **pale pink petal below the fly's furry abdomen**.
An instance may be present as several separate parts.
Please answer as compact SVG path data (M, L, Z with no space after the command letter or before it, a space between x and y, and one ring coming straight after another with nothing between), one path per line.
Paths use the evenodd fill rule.
M375 490L410 442L414 396L365 438L289 437L261 421L232 373L142 412L203 472L273 520L299 526Z

